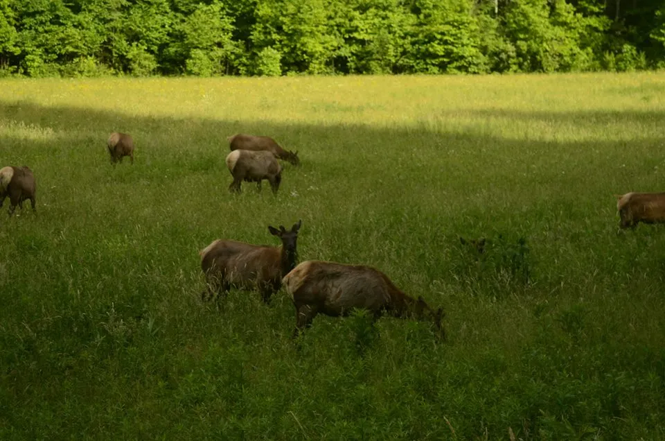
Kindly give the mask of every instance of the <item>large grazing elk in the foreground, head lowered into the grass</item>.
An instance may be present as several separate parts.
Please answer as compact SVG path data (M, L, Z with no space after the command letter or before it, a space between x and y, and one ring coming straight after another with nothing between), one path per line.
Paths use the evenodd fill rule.
M423 297L409 297L387 275L371 266L304 261L285 275L282 284L296 308L294 337L309 327L318 314L337 317L356 308L370 311L375 319L387 313L432 321L445 339L441 326L443 309L429 308Z

